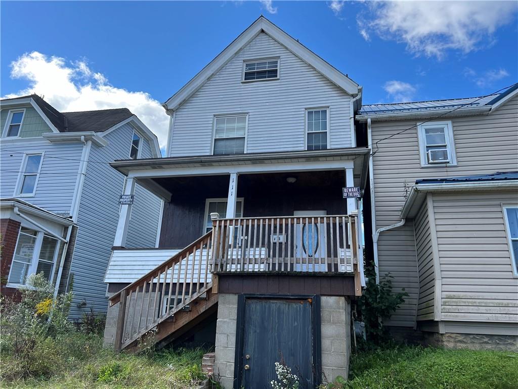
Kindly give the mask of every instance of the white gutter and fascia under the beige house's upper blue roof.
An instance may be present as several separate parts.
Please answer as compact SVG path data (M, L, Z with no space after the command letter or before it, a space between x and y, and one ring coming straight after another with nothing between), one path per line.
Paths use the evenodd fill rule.
M454 108L453 108L454 109ZM454 112L452 108L441 108L441 109L428 109L423 111L412 111L412 112L388 112L382 114L365 114L356 115L356 120L359 122L366 122L368 119L371 121L391 121L391 120L407 120L407 119L429 119L434 117L455 117L455 116L470 116L470 115L485 115L491 110L491 106L481 105L477 107L465 107L458 108ZM451 114L450 114L451 112ZM448 114L448 115L446 115Z

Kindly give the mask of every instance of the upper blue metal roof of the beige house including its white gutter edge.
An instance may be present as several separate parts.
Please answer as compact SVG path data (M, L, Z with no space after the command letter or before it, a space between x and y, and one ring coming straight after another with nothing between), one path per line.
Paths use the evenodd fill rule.
M426 113L441 114L448 112L448 110L459 110L466 112L490 112L497 106L512 98L518 93L518 82L507 88L504 92L495 93L487 96L479 96L462 99L445 99L445 100L428 100L416 101L408 103L391 103L391 104L368 104L362 105L359 110L357 119L366 120L368 118L376 118L387 116L405 116L411 117L413 115L423 115Z

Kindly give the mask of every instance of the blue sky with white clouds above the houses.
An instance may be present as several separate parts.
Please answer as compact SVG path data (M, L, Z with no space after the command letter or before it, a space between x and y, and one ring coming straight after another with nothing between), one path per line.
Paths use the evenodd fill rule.
M478 96L518 80L517 4L4 1L0 94L125 104L162 140L159 103L263 14L363 85L364 104Z

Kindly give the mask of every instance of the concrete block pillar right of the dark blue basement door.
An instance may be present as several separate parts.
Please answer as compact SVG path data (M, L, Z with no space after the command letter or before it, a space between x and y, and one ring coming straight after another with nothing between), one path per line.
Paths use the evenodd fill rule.
M351 354L351 304L346 297L320 299L322 377L329 382L347 379Z

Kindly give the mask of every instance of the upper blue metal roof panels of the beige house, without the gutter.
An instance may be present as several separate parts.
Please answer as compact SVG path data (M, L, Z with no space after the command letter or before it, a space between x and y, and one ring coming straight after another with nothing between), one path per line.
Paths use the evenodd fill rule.
M478 107L482 105L492 105L498 100L512 93L518 89L518 83L508 88L503 93L492 94L483 97L473 97L465 99L447 99L447 100L429 100L429 101L415 101L409 103L393 103L393 104L369 104L363 105L359 110L359 115L369 114L387 114L399 112L422 112L435 109L457 108L459 106Z

